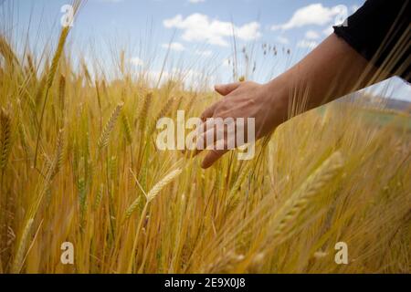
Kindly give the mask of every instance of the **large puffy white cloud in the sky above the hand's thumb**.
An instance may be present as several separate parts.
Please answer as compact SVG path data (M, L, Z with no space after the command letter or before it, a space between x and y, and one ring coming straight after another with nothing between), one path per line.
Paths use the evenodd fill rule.
M174 16L163 21L166 28L182 29L182 38L188 42L206 42L211 45L227 47L227 36L233 35L238 39L248 41L261 36L258 22L250 22L243 26L234 26L230 22L210 19L208 16L195 13L187 17Z

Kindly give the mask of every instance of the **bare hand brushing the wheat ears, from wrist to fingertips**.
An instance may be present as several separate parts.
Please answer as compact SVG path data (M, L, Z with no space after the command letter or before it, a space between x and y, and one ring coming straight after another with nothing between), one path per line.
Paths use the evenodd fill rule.
M203 112L201 119L204 123L207 118L233 118L234 120L244 118L246 121L247 118L254 118L255 140L257 141L287 119L288 92L281 89L275 80L263 85L250 81L216 85L215 89L225 98L217 101ZM203 129L203 127L200 129ZM205 141L205 131L200 131L198 137ZM222 137L224 137L225 146L227 146L227 141L230 139L236 141L236 137L229 137L227 129L225 129ZM213 144L215 143L216 136L213 140ZM236 143L236 147L239 146L242 145ZM229 151L227 147L223 150L216 150L215 148L208 151L201 166L203 168L210 167L227 151Z

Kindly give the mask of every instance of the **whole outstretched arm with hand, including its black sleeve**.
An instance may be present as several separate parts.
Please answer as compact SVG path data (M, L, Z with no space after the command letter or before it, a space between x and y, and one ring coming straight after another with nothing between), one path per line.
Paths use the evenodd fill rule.
M263 85L216 86L226 98L202 118L255 118L257 140L290 118L290 98L306 105L301 113L392 75L410 82L410 17L411 0L368 0L348 17L347 26L334 26L332 36L278 78ZM226 152L208 151L202 166L211 166Z

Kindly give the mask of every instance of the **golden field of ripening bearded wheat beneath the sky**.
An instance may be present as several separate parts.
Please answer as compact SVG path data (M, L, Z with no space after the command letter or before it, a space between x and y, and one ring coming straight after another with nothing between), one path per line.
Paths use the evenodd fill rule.
M409 114L376 125L333 102L203 170L157 150L155 123L216 93L152 86L121 56L121 78L91 77L68 35L43 66L0 36L0 273L411 272Z

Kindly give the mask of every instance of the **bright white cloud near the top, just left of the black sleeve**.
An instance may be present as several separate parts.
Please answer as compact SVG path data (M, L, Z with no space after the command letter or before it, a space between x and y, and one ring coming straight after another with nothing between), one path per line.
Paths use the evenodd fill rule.
M321 3L311 4L297 9L290 20L282 25L271 26L272 30L290 29L300 26L324 26L332 22L333 17L342 13L341 5L325 7Z

